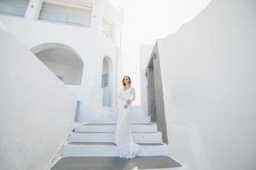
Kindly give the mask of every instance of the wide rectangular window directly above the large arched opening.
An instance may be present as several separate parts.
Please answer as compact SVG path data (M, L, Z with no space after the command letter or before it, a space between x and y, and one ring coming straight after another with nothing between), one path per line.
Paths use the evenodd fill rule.
M44 2L38 20L90 27L91 11L91 7L73 8Z

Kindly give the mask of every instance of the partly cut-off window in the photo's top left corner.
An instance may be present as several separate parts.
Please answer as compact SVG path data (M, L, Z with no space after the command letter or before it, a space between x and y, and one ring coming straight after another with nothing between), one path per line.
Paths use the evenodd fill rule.
M0 14L24 17L29 0L0 0Z

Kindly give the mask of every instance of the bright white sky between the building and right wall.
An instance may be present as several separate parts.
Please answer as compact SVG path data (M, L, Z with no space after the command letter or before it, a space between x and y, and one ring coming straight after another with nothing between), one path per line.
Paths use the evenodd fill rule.
M140 103L139 49L178 31L199 14L211 0L109 0L125 13L119 80L129 75Z

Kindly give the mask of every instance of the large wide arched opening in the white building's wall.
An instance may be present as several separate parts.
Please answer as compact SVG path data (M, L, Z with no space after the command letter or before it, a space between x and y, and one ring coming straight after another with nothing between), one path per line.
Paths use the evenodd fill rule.
M84 62L73 48L61 43L44 43L31 51L65 84L81 84Z

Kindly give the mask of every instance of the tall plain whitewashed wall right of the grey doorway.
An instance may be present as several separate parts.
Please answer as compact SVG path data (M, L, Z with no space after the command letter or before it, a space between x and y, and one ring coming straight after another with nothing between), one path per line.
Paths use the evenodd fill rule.
M255 8L214 0L158 41L171 154L193 170L256 169Z

